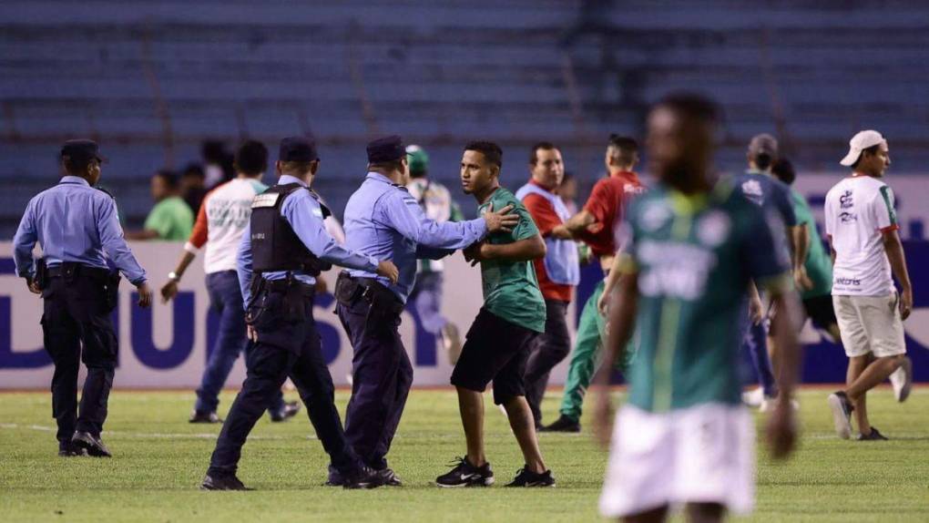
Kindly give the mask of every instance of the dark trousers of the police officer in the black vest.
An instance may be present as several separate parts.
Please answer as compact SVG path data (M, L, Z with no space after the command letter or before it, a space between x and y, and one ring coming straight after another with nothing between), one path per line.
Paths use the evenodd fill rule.
M245 439L290 376L334 468L343 475L354 475L360 464L335 408L333 377L322 358L312 298L302 298L302 320L289 320L285 308L293 313L293 307L284 307L282 293L270 294L275 295L267 300L262 320L255 322L258 341L249 356L247 377L219 432L208 474L235 473ZM260 302L260 295L255 302Z

